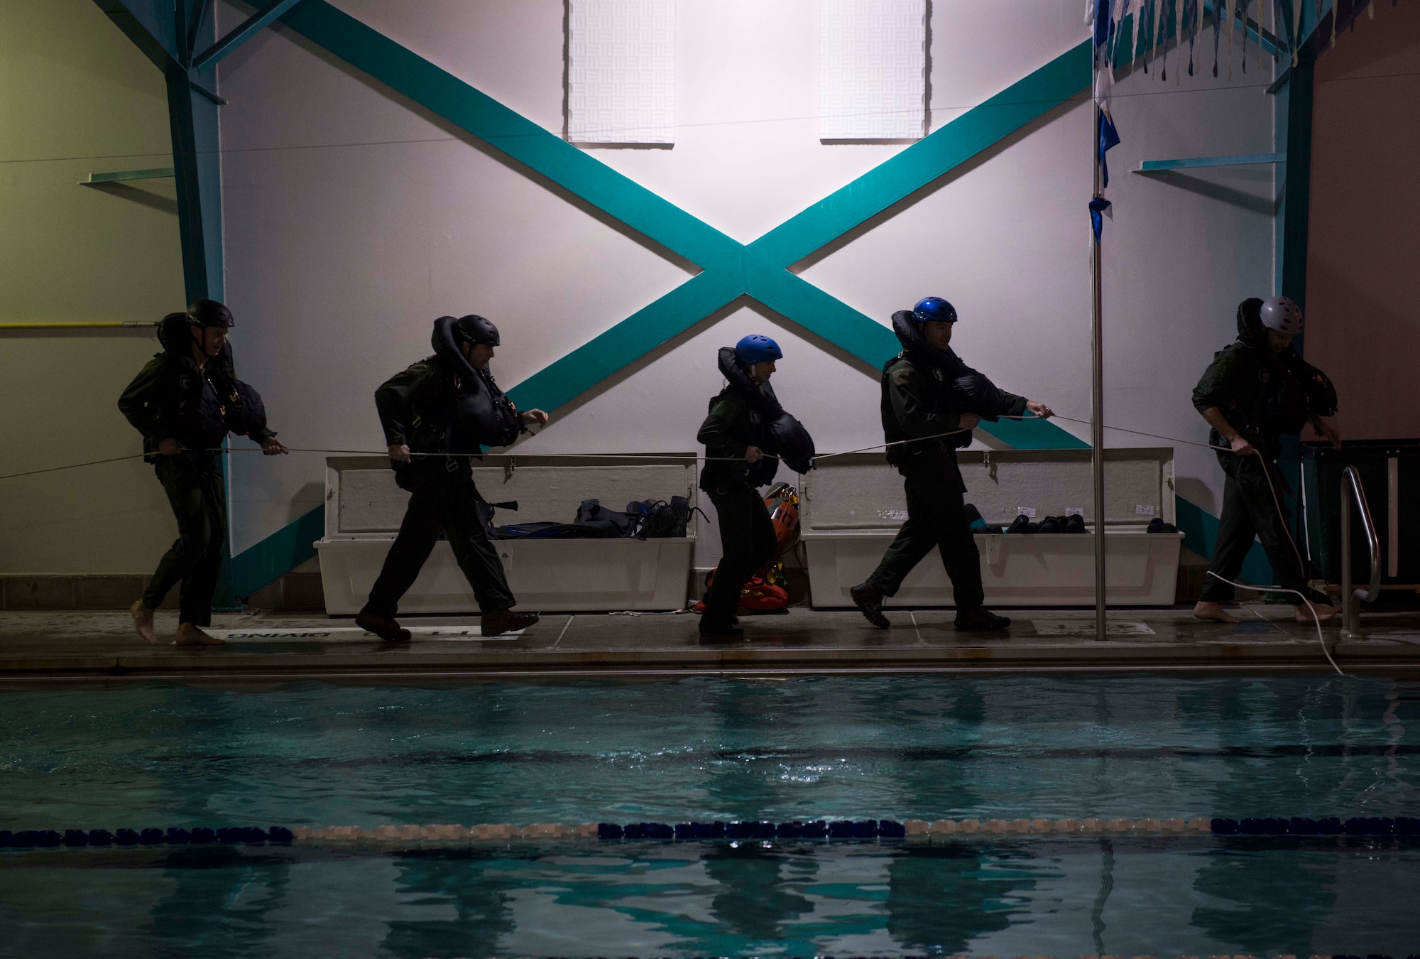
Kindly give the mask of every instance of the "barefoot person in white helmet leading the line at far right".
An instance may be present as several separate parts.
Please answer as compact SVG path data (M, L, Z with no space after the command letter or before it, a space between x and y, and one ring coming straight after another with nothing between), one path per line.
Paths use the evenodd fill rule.
M1292 350L1302 332L1302 310L1287 297L1255 297L1238 304L1238 338L1213 358L1193 391L1193 405L1213 426L1208 442L1225 446L1217 453L1227 479L1223 516L1213 563L1193 615L1213 622L1241 622L1220 604L1233 600L1233 587L1252 537L1262 541L1277 585L1308 594L1322 621L1336 615L1325 597L1306 587L1301 551L1287 530L1282 494L1287 484L1277 469L1281 435L1298 433L1306 423L1318 436L1340 448L1340 436L1328 419L1336 413L1336 389L1321 369ZM1221 578L1220 578L1221 577ZM1312 622L1305 602L1295 607L1298 622Z

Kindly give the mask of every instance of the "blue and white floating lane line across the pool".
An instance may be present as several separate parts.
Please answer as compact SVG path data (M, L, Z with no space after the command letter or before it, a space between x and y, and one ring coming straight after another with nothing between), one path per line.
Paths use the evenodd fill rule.
M1272 818L1015 818L1015 820L794 820L713 823L484 823L479 825L358 825L311 827L223 827L193 830L0 830L0 848L33 850L55 847L135 848L158 845L291 845L291 844L467 844L510 840L653 840L653 841L770 841L770 840L907 840L995 835L1049 837L1298 837L1379 838L1420 837L1420 818L1353 817L1340 820L1306 817Z

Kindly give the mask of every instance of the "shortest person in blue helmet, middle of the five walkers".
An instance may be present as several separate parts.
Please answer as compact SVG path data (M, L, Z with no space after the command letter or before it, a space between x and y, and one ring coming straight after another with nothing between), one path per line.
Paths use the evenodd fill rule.
M785 419L792 421L770 386L774 361L782 357L780 344L760 334L744 337L734 348L720 350L720 372L727 385L710 399L710 415L696 438L706 448L700 489L714 503L724 550L706 594L701 638L744 638L744 631L736 627L740 591L754 571L774 557L774 523L758 487L771 482L780 466L772 455L780 452L775 429ZM792 425L797 426L797 421ZM794 465L787 450L785 459ZM807 460L798 465L801 472L811 460L812 440Z

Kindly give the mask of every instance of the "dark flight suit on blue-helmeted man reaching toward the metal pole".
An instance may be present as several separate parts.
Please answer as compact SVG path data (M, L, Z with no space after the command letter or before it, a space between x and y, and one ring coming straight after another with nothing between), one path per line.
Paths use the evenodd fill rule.
M1024 396L1004 389L1000 394L1000 415L1025 412ZM888 462L902 473L907 492L907 521L865 585L885 597L896 595L913 567L936 547L951 580L958 615L980 609L985 602L981 558L963 510L967 487L957 467L957 448L970 443L971 433L920 439L960 428L961 411L954 408L950 384L909 352L897 354L883 367L882 421L889 443L919 442L888 448Z

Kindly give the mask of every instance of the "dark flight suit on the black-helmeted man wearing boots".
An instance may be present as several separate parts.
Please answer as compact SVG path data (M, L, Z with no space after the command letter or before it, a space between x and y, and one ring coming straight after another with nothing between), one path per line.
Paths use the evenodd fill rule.
M399 598L415 584L440 531L449 537L479 609L508 609L517 602L479 516L483 497L473 483L471 459L446 456L456 399L454 374L439 357L416 362L375 391L385 442L408 445L415 456L409 463L395 463L395 482L410 493L409 507L362 614L395 617Z

